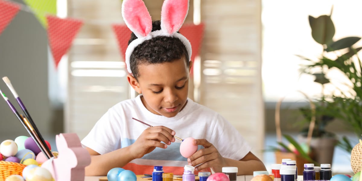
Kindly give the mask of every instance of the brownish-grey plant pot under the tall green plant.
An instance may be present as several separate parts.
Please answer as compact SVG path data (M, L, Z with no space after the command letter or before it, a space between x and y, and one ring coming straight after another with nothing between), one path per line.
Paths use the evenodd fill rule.
M303 135L298 135L298 141L306 143L307 138ZM336 144L337 139L335 137L312 138L310 146L314 150L315 161L320 164L332 164Z

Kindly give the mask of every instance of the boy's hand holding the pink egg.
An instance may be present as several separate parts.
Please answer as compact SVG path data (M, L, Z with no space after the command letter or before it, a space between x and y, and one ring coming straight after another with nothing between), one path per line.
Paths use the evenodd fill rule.
M200 171L202 169L211 167L215 172L222 172L222 168L224 165L226 165L226 160L220 155L219 151L214 147L214 145L212 145L206 139L195 139L193 144L204 147L187 159L189 165L191 166L195 167L195 165L201 164L195 167L195 171Z

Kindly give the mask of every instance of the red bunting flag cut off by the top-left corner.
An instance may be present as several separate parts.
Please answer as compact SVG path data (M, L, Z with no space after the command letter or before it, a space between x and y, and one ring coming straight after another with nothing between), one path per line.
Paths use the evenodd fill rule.
M19 10L19 5L0 0L0 35Z

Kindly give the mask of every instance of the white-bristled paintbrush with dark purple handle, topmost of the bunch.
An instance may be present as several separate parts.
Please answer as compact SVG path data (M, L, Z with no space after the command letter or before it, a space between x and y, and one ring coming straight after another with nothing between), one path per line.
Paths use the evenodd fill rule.
M23 112L25 113L25 117L28 118L28 121L29 121L31 127L34 129L34 132L36 133L36 135L39 136L39 137L38 137L38 139L39 139L39 141L40 141L39 143L40 143L41 145L43 145L43 147L46 148L46 149L45 149L46 153L44 153L44 154L48 157L48 159L50 159L50 158L53 156L53 154L51 153L48 145L45 143L45 141L44 141L42 135L40 134L37 126L35 125L33 119L31 118L31 116L30 116L30 114L29 114L29 111L26 109L25 105L22 103L20 97L19 97L18 94L16 93L13 85L12 85L11 82L10 82L10 79L9 79L8 77L3 77L3 80L4 80L5 84L8 86L8 88L10 89L11 93L13 93L14 98L16 99L16 101L17 101L18 104L20 105L21 109L22 109ZM35 140L34 140L34 141L35 141Z

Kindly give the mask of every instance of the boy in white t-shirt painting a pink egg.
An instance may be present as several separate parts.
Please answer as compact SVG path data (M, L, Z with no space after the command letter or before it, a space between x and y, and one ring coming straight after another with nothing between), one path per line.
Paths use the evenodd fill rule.
M123 4L128 2L123 0ZM123 17L127 18L127 15ZM161 21L166 22L162 17ZM130 25L132 22L125 22L134 32L128 53L126 51L127 68L132 73L127 79L140 95L109 109L82 140L92 158L85 174L106 175L115 167L135 174L150 174L153 166L160 165L164 172L176 175L182 174L186 164L194 166L195 173L210 171L210 168L222 172L222 167L238 167L238 175L266 170L230 123L216 112L188 99L192 67L189 42L180 38L178 33L173 35L174 32L152 35L133 46L132 43L146 36L140 35L143 31L135 30ZM161 27L167 28L160 21L153 22L152 32L146 33L147 36L161 31ZM147 127L132 118L154 127ZM181 141L175 140L175 135L182 139L195 138L198 151L189 158L182 157L179 151Z

